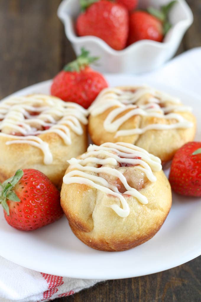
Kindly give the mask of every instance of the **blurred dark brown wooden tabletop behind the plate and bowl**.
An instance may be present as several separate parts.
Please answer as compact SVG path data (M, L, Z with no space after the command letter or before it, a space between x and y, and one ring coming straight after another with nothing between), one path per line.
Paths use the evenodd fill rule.
M0 98L51 79L74 59L57 16L60 0L0 0ZM177 54L201 46L201 1L187 0L194 22Z

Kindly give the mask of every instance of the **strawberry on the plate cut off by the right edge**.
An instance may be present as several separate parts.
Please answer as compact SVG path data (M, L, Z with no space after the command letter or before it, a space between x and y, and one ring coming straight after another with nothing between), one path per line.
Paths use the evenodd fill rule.
M201 196L201 142L186 143L177 150L169 181L178 194Z

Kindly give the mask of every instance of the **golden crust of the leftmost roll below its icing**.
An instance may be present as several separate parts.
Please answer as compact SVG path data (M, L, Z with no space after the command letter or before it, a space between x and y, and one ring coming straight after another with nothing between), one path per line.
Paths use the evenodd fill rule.
M81 136L69 129L71 145L66 145L57 133L47 132L38 135L49 144L53 156L53 162L49 165L44 164L44 154L38 147L28 143L6 145L6 142L16 140L16 137L0 135L0 182L14 175L17 169L33 168L46 174L58 188L61 188L62 178L68 167L66 161L86 151L88 144L86 126L82 125L82 128Z

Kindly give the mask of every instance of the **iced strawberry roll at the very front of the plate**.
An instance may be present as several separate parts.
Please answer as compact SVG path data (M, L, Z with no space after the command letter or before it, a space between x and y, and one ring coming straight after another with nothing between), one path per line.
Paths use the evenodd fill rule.
M104 143L68 162L61 207L86 245L123 251L158 232L171 207L158 157L129 143Z

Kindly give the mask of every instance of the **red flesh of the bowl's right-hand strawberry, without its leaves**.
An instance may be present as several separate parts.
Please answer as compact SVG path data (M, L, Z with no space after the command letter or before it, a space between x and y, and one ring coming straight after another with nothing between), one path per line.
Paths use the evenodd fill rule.
M163 27L160 20L146 11L134 11L130 14L128 45L139 40L163 40Z

